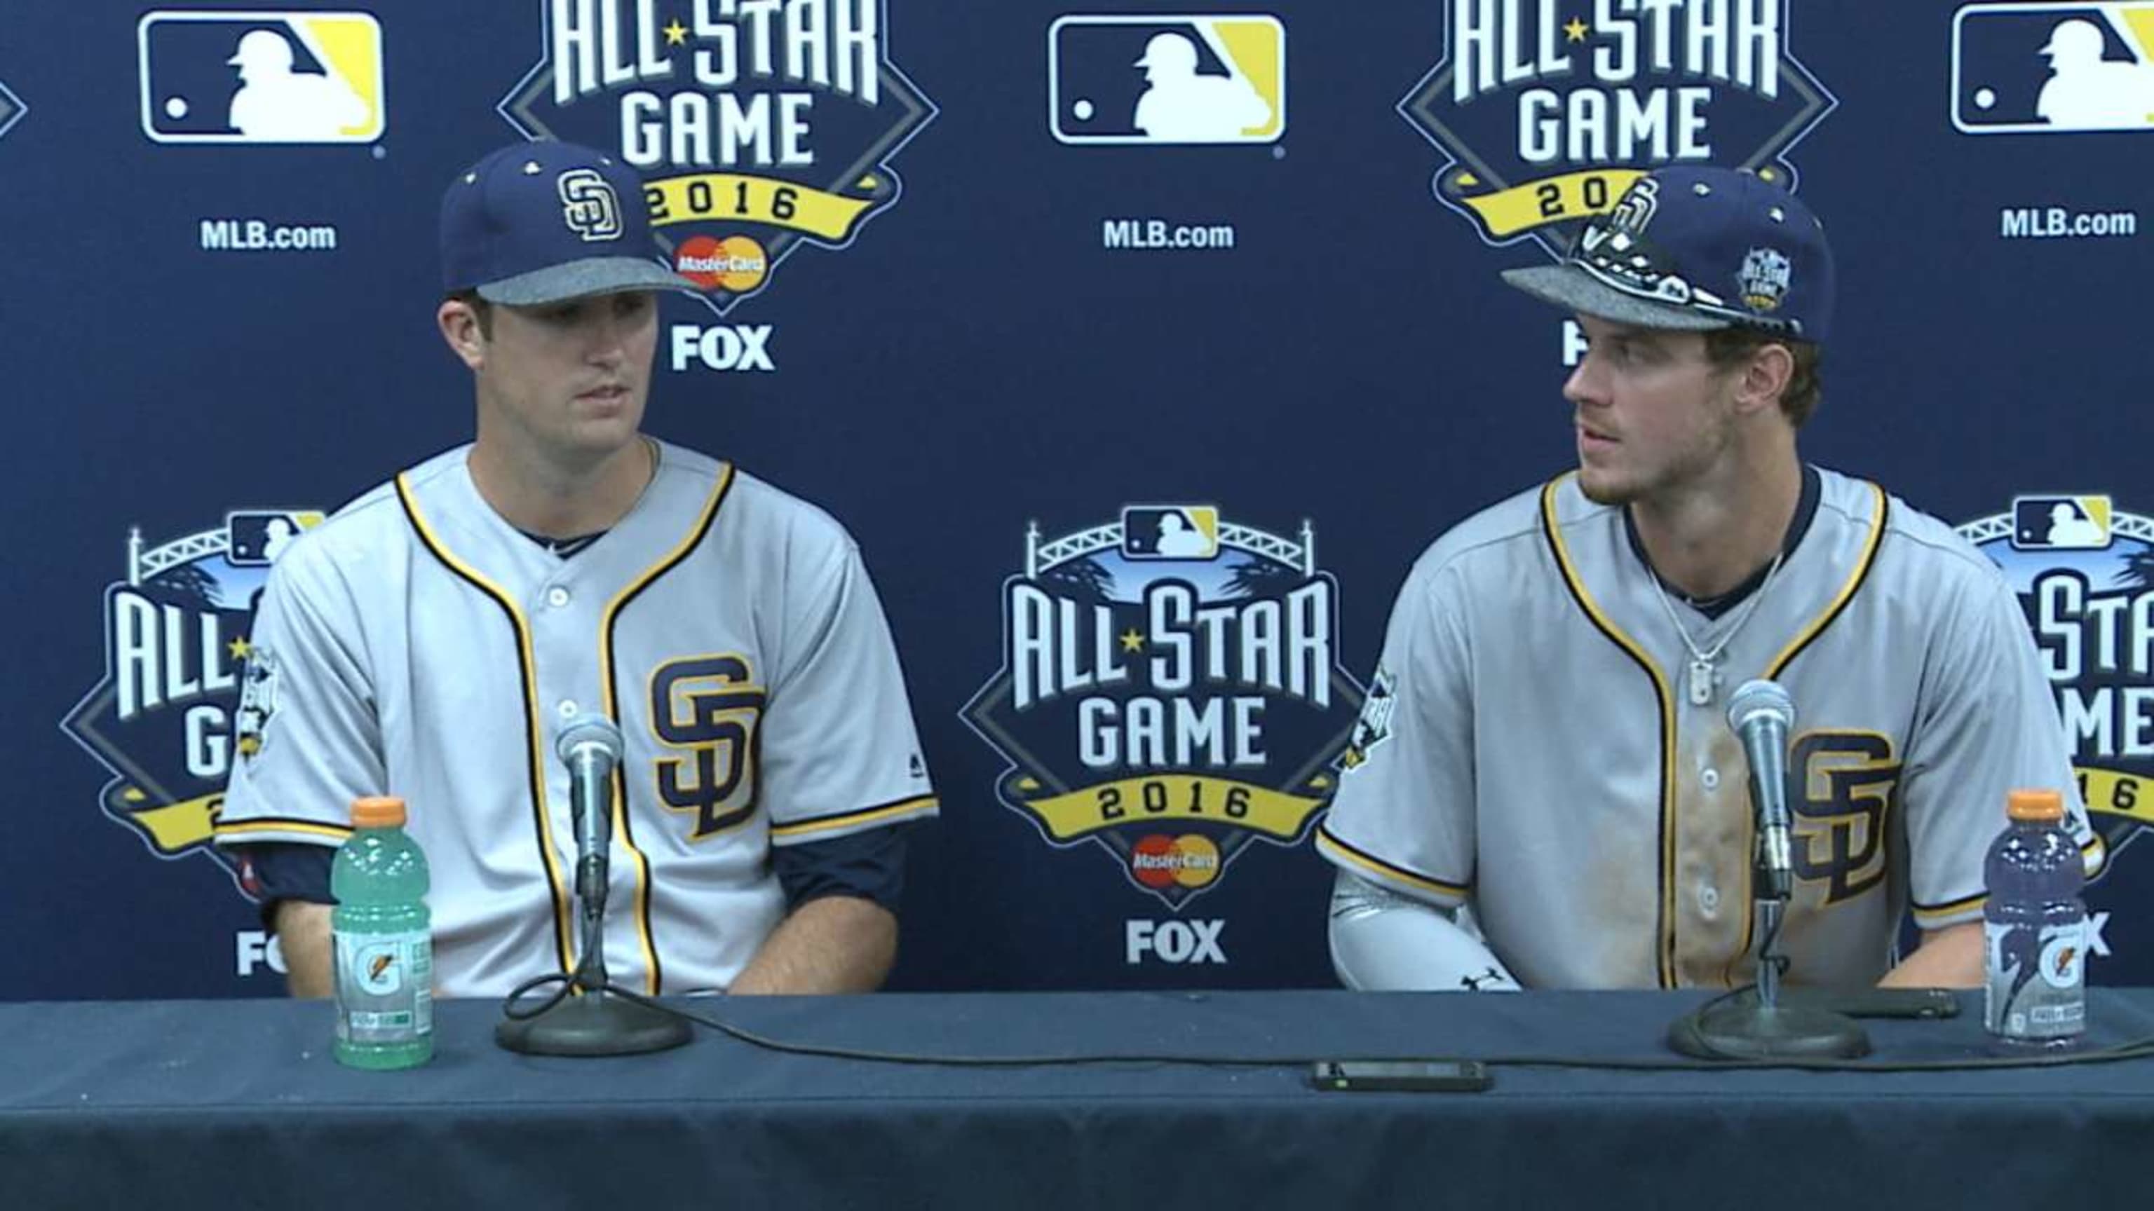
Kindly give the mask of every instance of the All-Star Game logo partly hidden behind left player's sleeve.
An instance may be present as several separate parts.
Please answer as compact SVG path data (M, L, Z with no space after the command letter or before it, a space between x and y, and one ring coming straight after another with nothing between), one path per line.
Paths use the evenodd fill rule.
M321 513L235 511L224 526L146 547L127 537L127 580L106 588L106 677L60 720L60 730L112 771L99 802L142 834L151 853L209 853L233 862L209 830L233 758L258 735L241 709L250 662L248 621L269 565ZM246 698L271 707L261 685Z

